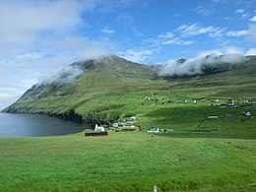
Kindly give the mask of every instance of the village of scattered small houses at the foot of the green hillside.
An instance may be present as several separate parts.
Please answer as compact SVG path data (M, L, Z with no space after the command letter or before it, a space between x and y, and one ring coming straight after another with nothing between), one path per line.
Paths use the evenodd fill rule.
M202 124L206 121L220 120L221 118L236 118L236 117L244 117L244 118L253 118L252 112L249 110L250 107L256 107L256 98L251 99L233 99L233 98L193 98L193 99L177 99L171 100L165 97L151 97L144 96L141 98L143 102L152 102L156 105L171 105L171 104L198 104L198 105L207 105L208 107L218 107L222 108L244 108L241 113L225 113L224 115L218 114L206 114L205 118L203 118L199 124L195 127L193 131L195 132L211 132L211 131L221 131L220 127L202 127ZM120 119L117 122L114 122L110 126L107 125L95 125L95 130L93 133L86 133L86 136L96 137L96 136L107 136L107 131L146 131L148 133L171 133L173 129L162 129L158 125L152 125L147 127L146 129L142 129L139 125L140 117L137 116L129 116L124 119Z

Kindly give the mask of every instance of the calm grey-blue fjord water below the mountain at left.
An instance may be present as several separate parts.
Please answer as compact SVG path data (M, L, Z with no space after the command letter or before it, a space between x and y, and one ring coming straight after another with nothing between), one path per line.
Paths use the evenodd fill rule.
M84 129L81 123L46 115L0 113L0 137L59 136Z

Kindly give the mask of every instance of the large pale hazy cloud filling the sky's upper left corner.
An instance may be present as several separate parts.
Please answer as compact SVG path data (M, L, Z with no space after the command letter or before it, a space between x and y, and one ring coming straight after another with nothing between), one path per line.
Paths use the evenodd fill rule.
M83 9L91 8L89 2L0 1L1 54L26 50L46 34L73 32L82 24Z

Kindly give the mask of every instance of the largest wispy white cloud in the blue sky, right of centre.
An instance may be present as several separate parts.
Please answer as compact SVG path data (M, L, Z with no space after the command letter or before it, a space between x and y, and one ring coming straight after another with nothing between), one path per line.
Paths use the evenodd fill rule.
M182 36L194 36L199 34L208 34L209 36L216 37L224 32L224 29L209 27L201 27L197 24L180 26L177 31L181 32Z

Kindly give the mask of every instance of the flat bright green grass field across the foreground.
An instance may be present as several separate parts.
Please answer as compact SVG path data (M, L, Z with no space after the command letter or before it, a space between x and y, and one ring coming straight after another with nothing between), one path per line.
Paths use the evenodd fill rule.
M253 191L256 141L111 132L1 138L0 191Z

